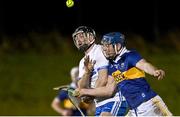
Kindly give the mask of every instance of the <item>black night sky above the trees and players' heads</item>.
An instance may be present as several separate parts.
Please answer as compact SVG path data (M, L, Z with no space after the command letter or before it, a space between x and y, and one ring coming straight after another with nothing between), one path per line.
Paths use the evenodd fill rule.
M66 0L1 1L1 32L24 35L30 31L58 30L71 35L79 25L88 25L98 33L134 32L150 37L154 30L165 33L179 28L179 5L160 0ZM148 38L147 38L148 39Z

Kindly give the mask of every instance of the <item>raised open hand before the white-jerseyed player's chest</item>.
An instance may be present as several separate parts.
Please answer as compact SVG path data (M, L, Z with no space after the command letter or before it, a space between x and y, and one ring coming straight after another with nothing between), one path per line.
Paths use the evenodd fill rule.
M84 69L85 69L86 73L91 73L93 71L95 63L96 63L96 61L90 60L89 56L85 56Z

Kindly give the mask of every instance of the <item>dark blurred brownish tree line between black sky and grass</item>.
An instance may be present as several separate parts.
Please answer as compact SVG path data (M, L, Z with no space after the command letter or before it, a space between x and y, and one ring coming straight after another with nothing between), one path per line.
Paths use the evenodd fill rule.
M135 33L125 33L129 48L136 48L143 53L180 51L180 30L171 30L161 34L155 41L149 41ZM98 35L100 41L101 35ZM29 32L27 35L0 35L0 53L35 52L66 53L76 51L71 35L63 36L58 31L48 33Z

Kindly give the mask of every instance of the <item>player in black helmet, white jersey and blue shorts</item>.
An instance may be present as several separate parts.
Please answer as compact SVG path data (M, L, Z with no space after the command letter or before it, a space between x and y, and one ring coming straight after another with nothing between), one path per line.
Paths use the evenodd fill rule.
M101 46L95 43L95 31L90 27L80 26L74 31L72 38L78 50L85 54L79 62L78 88L96 88L105 86L108 82L107 66L109 62L104 57ZM84 64L86 64L85 58L91 59L94 62L92 72L88 72L87 69L84 68ZM110 98L94 98L96 116L125 115L127 104L125 98L123 98L120 93L117 92Z

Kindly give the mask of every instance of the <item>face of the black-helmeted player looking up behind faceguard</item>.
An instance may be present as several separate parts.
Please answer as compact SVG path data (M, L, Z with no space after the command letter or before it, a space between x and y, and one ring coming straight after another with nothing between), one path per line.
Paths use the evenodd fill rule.
M79 33L74 37L74 42L79 50L86 51L89 46L88 36L85 33Z

